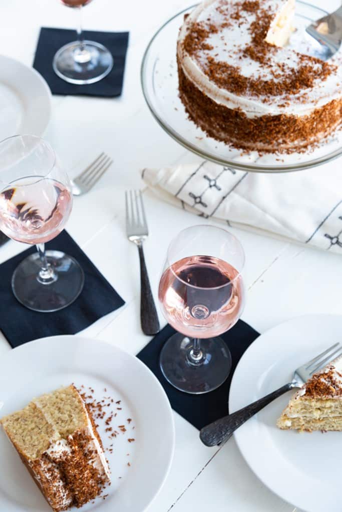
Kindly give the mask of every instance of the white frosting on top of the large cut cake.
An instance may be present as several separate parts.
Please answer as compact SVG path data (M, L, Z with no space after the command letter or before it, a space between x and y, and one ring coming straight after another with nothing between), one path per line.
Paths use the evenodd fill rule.
M229 0L229 4L235 4L238 0ZM270 27L270 32L274 31L274 24L277 23L277 16L281 10L288 7L292 0L263 0L262 6L274 12L274 23ZM277 48L271 55L271 68L265 68L261 63L252 60L248 56L242 55L243 49L251 43L251 33L249 27L255 20L255 14L244 11L242 21L236 22L228 27L221 29L218 33L211 33L206 39L206 43L213 49L202 50L196 56L190 56L184 49L184 41L189 26L193 22L223 23L224 16L216 8L221 0L205 0L197 6L187 17L178 37L177 52L178 58L182 64L185 75L194 82L197 87L205 92L212 100L223 104L230 109L240 108L248 117L257 117L266 114L295 114L304 116L310 114L315 108L323 106L333 99L342 97L342 50L331 60L338 65L337 72L332 72L325 80L316 79L314 86L310 89L301 90L299 93L291 96L291 104L284 105L284 96L257 96L250 94L237 95L223 88L218 87L204 72L204 65L207 57L211 56L215 61L224 61L234 68L238 67L239 72L245 77L263 80L277 80L272 75L272 71L279 73L278 65L286 63L288 69L296 70L299 63L299 55L290 48ZM289 8L291 12L291 9ZM241 50L237 52L236 50ZM317 70L320 65L317 63ZM280 78L279 78L280 79ZM267 101L265 101L267 99Z

